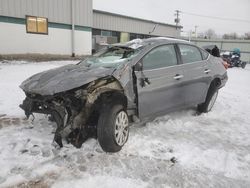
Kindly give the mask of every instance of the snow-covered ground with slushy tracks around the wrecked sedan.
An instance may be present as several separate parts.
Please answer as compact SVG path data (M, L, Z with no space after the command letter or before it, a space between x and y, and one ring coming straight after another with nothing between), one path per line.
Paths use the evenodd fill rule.
M250 66L228 70L210 113L134 126L122 151L107 154L95 139L55 149L55 124L25 120L18 107L24 79L68 63L0 63L0 187L250 187Z

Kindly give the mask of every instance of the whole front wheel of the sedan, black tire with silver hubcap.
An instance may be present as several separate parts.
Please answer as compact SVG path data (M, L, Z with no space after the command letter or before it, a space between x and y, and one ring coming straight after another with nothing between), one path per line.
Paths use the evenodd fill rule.
M103 108L97 126L100 146L106 152L118 152L129 136L129 118L123 105L107 105Z

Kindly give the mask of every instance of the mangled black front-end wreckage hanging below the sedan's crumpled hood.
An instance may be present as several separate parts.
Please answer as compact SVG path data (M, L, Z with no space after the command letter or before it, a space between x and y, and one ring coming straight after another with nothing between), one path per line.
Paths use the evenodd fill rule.
M82 143L88 136L84 127L85 122L83 122L83 118L81 118L83 117L82 113L85 112L83 111L85 108L82 108L84 103L80 99L73 99L68 95L66 96L67 97L63 98L59 96L27 94L23 103L19 106L24 110L27 118L29 118L30 115L33 115L33 113L50 115L52 120L57 124L54 141L60 147L63 147L62 133L68 126L72 132L69 133L67 141L76 147L81 147ZM77 120L79 119L81 120L79 123L81 127L74 127L74 123L77 123Z

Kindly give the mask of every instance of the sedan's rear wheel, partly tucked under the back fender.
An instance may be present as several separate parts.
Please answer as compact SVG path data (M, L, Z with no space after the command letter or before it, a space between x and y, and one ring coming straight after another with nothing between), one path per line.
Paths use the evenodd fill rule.
M214 103L217 99L218 91L219 91L219 89L218 89L216 82L212 82L209 89L208 89L205 102L198 105L197 111L200 113L207 113L207 112L211 111L211 109L213 108ZM210 104L211 102L213 104Z

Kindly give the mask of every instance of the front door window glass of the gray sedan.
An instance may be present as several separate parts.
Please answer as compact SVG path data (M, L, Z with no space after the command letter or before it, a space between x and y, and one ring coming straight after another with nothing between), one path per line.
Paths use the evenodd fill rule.
M143 58L143 69L151 70L177 65L174 45L164 45L151 50Z

